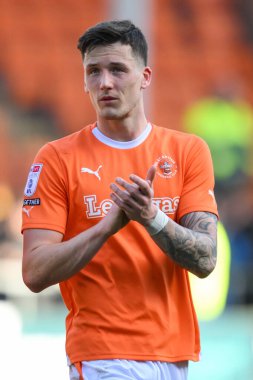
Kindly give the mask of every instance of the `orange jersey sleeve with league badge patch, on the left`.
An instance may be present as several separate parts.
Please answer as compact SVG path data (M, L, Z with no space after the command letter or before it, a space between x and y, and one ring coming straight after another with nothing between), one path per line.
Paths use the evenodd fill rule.
M22 208L22 232L38 228L65 233L68 197L64 168L58 152L46 144L28 174Z

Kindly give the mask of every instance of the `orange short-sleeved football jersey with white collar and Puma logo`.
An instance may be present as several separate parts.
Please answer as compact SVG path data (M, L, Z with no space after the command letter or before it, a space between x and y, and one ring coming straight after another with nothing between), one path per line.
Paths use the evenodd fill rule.
M176 222L189 212L217 214L209 149L199 137L149 125L115 142L95 125L46 144L25 188L22 229L61 232L68 240L109 211L110 183L157 166L153 202ZM60 283L69 310L72 363L96 359L198 360L199 328L188 272L131 221L90 263Z

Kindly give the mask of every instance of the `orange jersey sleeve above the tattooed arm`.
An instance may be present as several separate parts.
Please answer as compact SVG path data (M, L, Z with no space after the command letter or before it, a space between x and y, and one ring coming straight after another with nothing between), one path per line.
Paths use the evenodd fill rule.
M192 135L184 166L183 189L178 208L178 220L194 211L206 211L218 216L214 195L214 172L208 145Z

